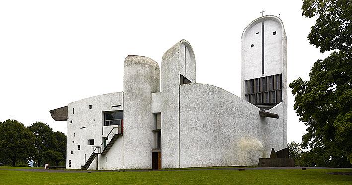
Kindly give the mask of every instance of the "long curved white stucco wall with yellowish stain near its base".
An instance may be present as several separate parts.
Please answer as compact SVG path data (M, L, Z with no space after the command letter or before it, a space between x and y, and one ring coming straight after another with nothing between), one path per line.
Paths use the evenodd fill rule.
M180 86L180 167L257 165L271 148L284 148L284 119L262 118L259 108L219 87Z

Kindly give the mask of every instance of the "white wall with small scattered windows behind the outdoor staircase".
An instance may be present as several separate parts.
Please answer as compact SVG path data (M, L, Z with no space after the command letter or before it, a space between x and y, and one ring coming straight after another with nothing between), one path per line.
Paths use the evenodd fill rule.
M92 105L92 109L89 109L89 105ZM113 105L121 106L112 107ZM105 137L112 127L103 126L104 112L116 110L123 110L123 92L103 94L68 104L67 168L80 169L92 154L92 146L101 146L102 137ZM94 145L88 145L88 139L94 139ZM78 150L78 145L81 147L80 150ZM106 156L109 163L106 163ZM115 142L106 156L104 159L99 159L100 169L122 168L121 138ZM69 160L71 160L71 167L69 167ZM95 167L96 160L93 161L90 169L95 169Z

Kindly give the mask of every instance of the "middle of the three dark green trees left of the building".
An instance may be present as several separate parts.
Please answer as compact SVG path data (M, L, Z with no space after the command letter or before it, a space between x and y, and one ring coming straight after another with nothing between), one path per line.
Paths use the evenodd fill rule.
M33 123L29 129L35 135L35 151L33 152L33 158L36 166L40 167L43 161L50 161L50 156L52 156L51 154L53 154L53 152L48 150L55 150L56 146L53 130L42 122ZM50 156L48 156L49 154Z

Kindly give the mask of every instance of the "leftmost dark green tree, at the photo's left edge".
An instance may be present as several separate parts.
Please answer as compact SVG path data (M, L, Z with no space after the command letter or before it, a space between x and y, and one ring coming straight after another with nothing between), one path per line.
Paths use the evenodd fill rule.
M9 160L12 166L16 166L18 161L27 163L33 151L33 133L22 123L11 119L0 122L0 133L1 163Z

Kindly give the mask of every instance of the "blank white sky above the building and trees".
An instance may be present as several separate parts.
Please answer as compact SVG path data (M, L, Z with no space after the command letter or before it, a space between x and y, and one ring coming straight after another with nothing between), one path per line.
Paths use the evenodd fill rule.
M181 39L196 56L196 81L240 96L240 40L264 15L279 16L288 41L288 83L308 80L326 57L306 39L315 20L302 17L299 0L251 1L0 1L0 121L42 121L66 134L49 110L83 98L123 91L127 55L159 63ZM288 142L305 126L288 91Z

